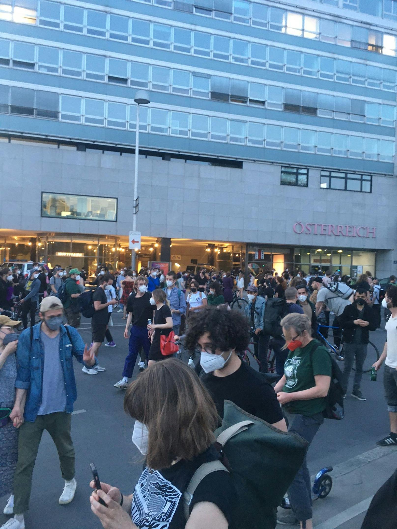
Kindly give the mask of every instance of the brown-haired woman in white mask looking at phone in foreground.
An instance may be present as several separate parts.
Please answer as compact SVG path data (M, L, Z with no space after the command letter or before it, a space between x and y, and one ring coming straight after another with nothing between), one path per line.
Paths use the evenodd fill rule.
M129 496L106 483L92 492L91 510L103 527L231 529L237 498L225 470L200 482L188 504L188 521L184 513L184 492L194 472L220 459L213 446L216 408L194 371L174 359L154 364L128 387L124 410L136 419L132 441L146 455L147 467Z

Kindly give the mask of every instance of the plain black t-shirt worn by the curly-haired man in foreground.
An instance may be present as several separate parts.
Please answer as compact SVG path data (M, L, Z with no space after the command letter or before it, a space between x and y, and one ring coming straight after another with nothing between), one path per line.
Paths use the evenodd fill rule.
M212 373L203 372L200 378L209 390L220 417L223 417L223 403L227 399L269 424L283 418L272 386L261 373L245 362L241 362L239 369L227 377L215 377Z

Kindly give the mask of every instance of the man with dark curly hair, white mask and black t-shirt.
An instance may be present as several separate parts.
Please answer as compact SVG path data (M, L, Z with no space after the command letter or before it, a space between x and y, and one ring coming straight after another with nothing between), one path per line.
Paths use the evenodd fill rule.
M249 324L237 311L207 307L194 314L185 346L200 349L198 375L210 391L220 417L224 400L231 400L246 412L286 431L285 419L272 386L262 373L241 361L238 353L247 349Z

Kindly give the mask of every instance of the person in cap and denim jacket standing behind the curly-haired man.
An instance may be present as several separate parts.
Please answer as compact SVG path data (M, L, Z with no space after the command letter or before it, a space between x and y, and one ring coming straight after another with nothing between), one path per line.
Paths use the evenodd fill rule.
M267 349L269 336L263 333L263 315L265 313L265 298L258 296L258 288L249 286L247 288L248 305L244 309L244 315L248 318L251 333L254 334L254 352L260 362L259 371L268 373Z

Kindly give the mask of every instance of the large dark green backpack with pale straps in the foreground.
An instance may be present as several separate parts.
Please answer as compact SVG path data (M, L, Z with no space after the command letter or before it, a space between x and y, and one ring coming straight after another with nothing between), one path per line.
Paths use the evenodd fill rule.
M225 400L222 426L215 431L227 457L238 494L235 526L238 529L274 529L276 508L303 463L308 443L300 435L282 432ZM194 491L221 461L203 463L184 495L186 520Z

